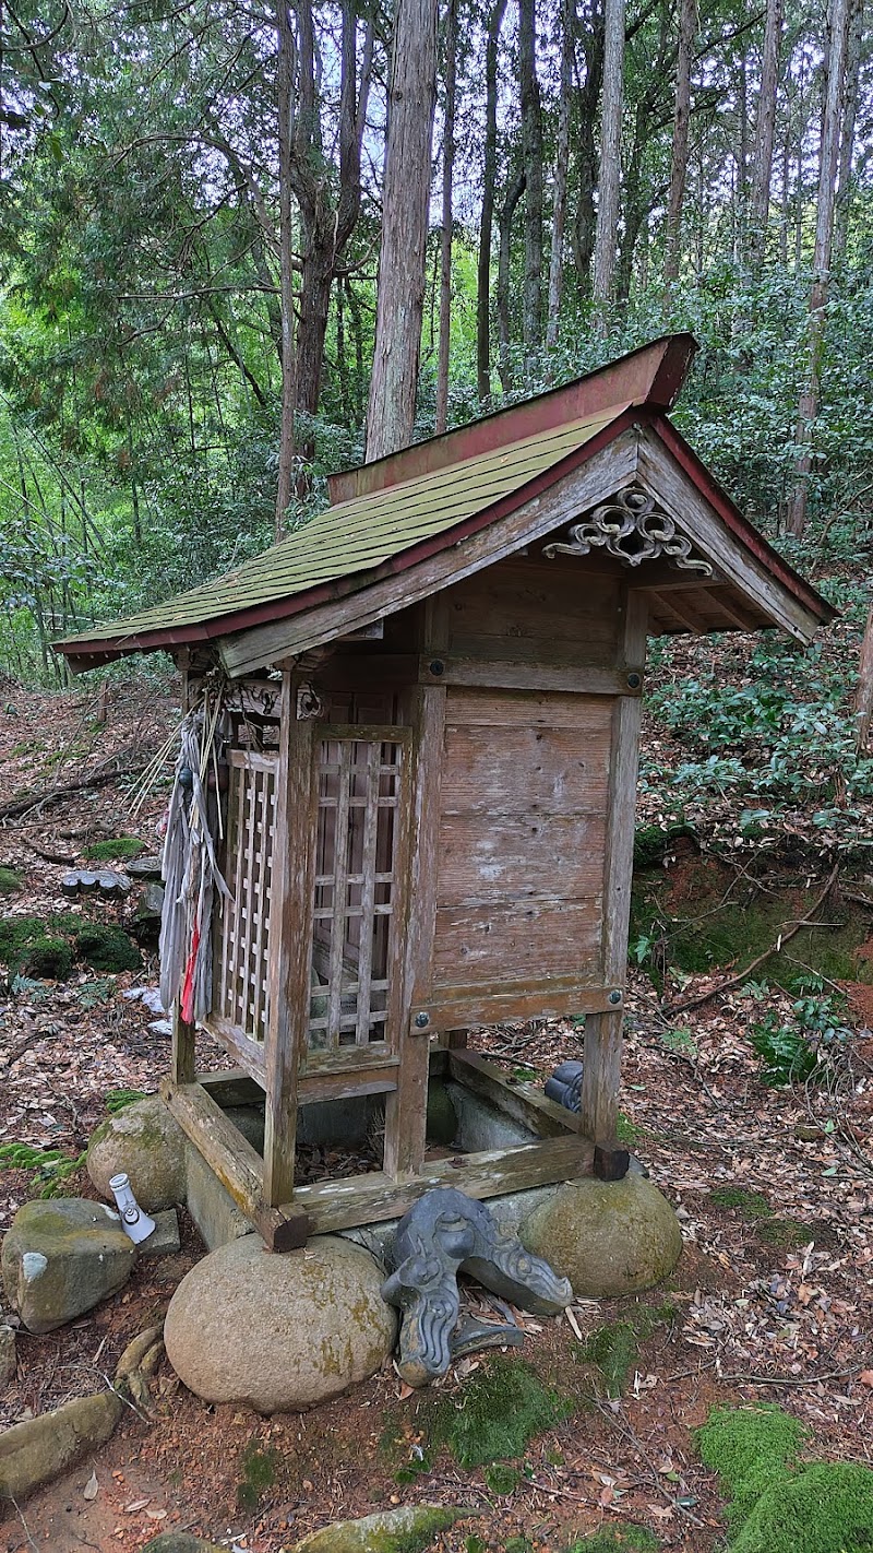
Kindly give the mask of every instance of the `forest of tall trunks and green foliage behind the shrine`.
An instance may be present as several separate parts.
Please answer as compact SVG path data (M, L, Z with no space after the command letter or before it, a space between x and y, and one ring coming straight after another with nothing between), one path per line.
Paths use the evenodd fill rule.
M692 329L678 422L842 623L656 648L671 814L861 842L870 42L864 0L6 3L0 669L60 685L51 640L327 472Z

